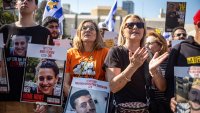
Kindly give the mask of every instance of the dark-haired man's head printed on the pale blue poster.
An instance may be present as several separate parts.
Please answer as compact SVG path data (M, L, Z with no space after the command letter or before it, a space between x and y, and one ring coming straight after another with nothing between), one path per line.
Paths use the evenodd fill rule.
M71 107L76 113L96 113L95 103L88 90L79 90L70 96Z

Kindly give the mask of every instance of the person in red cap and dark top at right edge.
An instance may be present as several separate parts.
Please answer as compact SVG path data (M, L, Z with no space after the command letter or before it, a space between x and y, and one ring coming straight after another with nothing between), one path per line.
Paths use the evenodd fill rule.
M166 70L167 97L171 99L170 107L176 112L177 101L174 97L174 66L200 66L200 10L193 17L195 37L188 37L185 41L177 44L171 51Z

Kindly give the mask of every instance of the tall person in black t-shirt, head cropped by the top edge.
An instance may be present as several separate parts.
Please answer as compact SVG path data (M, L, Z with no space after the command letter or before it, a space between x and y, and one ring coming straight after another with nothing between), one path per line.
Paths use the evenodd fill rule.
M34 20L34 12L37 10L38 0L16 0L16 8L19 12L18 21L12 24L3 25L0 33L3 33L5 44L5 57L8 70L8 78L10 83L10 92L0 94L0 111L2 113L31 113L33 112L33 104L20 103L22 90L22 82L26 57L10 55L10 44L12 36L30 36L31 43L47 44L48 29L37 25ZM12 109L7 109L12 106ZM44 106L37 105L36 112L45 112L41 110ZM12 111L13 110L13 111Z

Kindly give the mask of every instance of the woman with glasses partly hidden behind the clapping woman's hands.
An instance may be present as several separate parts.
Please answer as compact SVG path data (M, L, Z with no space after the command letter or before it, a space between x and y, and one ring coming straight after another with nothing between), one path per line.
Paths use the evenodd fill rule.
M167 41L165 38L156 32L149 32L146 35L145 47L148 49L149 54L153 56L158 52L159 56L168 51ZM152 58L149 56L149 60ZM160 64L160 72L165 75L167 59ZM169 101L165 98L165 93L159 91L152 83L151 87L151 113L170 113Z

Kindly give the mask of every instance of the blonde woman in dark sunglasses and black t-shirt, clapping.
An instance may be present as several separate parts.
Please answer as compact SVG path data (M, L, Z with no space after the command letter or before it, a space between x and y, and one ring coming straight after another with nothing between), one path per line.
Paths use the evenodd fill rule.
M140 106L140 111L148 112L148 78L151 77L160 91L165 91L165 79L158 72L157 67L167 58L168 53L158 57L155 53L149 65L146 62L148 52L144 47L146 35L145 23L137 15L127 15L121 24L118 45L109 50L104 61L106 79L110 82L114 93L118 112L134 112ZM149 75L150 73L150 75ZM131 106L123 110L122 106ZM135 106L134 106L135 105ZM146 109L142 109L145 107Z

